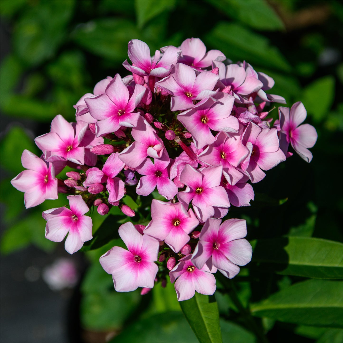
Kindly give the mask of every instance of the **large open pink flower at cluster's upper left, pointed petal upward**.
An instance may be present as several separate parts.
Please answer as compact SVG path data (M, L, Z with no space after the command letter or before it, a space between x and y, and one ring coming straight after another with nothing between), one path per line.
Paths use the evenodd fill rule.
M135 85L130 97L129 90L119 74L106 87L105 93L85 98L89 113L98 121L96 125L96 136L115 132L121 126L135 127L139 113L133 112L141 102L146 88Z

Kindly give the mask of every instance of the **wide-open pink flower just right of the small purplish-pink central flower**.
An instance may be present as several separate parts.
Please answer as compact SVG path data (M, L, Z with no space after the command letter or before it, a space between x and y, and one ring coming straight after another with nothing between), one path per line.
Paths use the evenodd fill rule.
M187 185L183 192L178 192L179 201L187 208L192 201L194 212L201 223L214 215L215 207L230 207L225 189L220 185L222 166L195 170L186 165L180 181Z

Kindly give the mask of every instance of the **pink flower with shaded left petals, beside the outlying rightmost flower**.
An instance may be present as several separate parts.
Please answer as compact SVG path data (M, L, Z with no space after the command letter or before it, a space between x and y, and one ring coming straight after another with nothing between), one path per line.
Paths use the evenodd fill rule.
M241 163L241 168L246 170L253 184L265 177L262 169L269 170L286 160L285 154L279 148L276 129L261 129L250 122L242 141L249 149L249 155Z

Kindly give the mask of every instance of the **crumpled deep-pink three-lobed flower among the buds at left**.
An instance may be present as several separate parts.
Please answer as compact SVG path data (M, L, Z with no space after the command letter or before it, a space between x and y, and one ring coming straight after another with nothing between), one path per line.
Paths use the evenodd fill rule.
M86 171L86 180L83 186L91 186L93 184L102 184L106 182L106 188L109 192L108 200L116 202L124 196L124 182L116 177L124 168L124 163L119 159L119 153L112 153L105 162L103 169L97 167L89 168Z

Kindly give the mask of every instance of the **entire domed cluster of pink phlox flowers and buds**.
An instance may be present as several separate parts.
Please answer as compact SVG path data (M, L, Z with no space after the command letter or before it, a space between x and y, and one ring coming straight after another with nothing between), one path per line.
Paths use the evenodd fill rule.
M292 155L289 144L310 162L317 132L300 125L301 102L279 107L273 123L266 108L285 104L266 93L274 80L245 61L228 63L221 51L206 51L199 38L154 56L133 39L128 57L129 75L99 81L74 105L75 122L52 120L50 132L35 139L42 156L25 150L26 170L12 185L25 192L26 208L70 194L69 208L43 212L45 237L68 235L69 253L92 239L92 206L99 215L118 206L135 217L126 194L142 200L157 188L165 201L152 200L150 221L121 225L127 250L113 247L101 265L118 292L142 287L145 294L169 276L179 301L211 295L216 271L232 278L251 260L245 220L224 220L230 206L250 205L253 184ZM67 165L74 171L57 179Z

